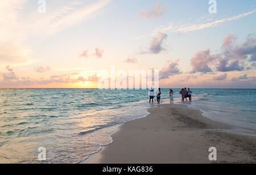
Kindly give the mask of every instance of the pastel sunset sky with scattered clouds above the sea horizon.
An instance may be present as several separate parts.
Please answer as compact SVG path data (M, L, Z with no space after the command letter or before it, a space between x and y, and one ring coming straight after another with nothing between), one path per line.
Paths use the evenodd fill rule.
M2 0L0 88L97 88L111 66L159 70L162 88L256 88L255 5Z

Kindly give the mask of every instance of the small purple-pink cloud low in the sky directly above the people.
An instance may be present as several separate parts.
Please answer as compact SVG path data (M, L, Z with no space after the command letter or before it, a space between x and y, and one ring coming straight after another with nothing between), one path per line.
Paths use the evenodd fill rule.
M179 59L172 61L168 63L166 67L163 67L159 71L159 79L167 79L169 76L175 75L175 74L181 74L180 69L177 67L179 66Z

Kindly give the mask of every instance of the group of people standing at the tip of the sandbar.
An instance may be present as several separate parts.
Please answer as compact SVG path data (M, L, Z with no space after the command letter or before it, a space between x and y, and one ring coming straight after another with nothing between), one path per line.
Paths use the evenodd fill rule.
M181 91L179 92L179 94L181 95L182 97L182 101L184 101L184 99L187 100L187 97L189 99L189 101L191 102L191 93L192 91L188 88L182 88ZM148 92L148 96L150 97L150 100L149 100L149 103L153 103L153 100L154 100L154 97L156 95L156 100L158 101L158 104L160 104L160 99L161 99L161 88L158 88L158 91L154 91L153 88L150 89L150 91ZM170 96L170 104L172 104L174 102L174 91L172 91L172 89L170 89L170 92L169 92L169 96Z

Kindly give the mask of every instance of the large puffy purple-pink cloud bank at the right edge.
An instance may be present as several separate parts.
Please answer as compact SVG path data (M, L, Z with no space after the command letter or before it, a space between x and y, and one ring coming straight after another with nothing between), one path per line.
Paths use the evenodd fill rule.
M212 71L245 70L246 62L253 62L256 55L256 38L249 35L241 45L237 45L236 40L237 38L234 35L228 35L223 40L221 52L215 55L210 54L210 49L197 52L191 59L192 72L205 74ZM251 66L253 66L253 63L251 63ZM251 66L247 69L252 69Z

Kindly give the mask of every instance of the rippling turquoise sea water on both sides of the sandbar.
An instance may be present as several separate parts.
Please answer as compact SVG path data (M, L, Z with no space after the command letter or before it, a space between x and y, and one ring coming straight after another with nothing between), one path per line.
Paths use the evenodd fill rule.
M256 134L256 89L191 89L189 107ZM175 103L181 103L174 89ZM78 163L112 142L123 122L146 117L148 91L100 89L0 89L0 163ZM162 89L162 103L168 89ZM46 161L38 148L46 148Z

